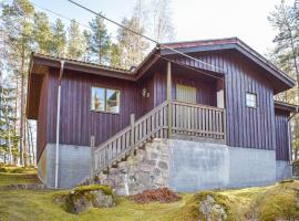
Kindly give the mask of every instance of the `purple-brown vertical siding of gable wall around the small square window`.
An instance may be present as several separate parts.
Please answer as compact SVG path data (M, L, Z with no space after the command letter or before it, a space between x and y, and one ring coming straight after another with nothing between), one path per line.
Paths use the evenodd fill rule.
M275 149L274 90L270 81L266 78L265 71L234 51L195 53L193 56L225 71L227 144L235 147ZM174 59L187 65L199 66L186 57ZM196 84L198 83L196 82ZM198 84L198 88L204 91L207 87L210 85ZM164 92L161 88L157 91L158 93ZM246 92L257 94L257 108L246 106ZM165 97L157 103L163 101ZM214 101L214 105L216 105L216 93L214 99L206 101L203 97L203 101L208 105L213 105Z

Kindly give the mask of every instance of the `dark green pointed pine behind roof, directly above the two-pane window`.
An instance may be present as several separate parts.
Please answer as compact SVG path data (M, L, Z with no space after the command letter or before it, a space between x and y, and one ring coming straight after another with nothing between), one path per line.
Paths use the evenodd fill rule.
M92 54L92 60L99 64L109 64L111 39L104 20L100 17L94 18L90 22L90 28L91 39L89 48Z

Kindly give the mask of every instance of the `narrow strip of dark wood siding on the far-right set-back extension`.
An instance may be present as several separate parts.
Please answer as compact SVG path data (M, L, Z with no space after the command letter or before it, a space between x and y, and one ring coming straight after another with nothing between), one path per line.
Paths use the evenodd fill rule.
M276 159L289 160L289 113L282 110L275 110L276 125Z

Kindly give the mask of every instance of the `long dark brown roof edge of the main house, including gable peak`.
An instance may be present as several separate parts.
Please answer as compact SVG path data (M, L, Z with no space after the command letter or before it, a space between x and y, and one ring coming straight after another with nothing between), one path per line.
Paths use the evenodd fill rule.
M93 74L101 74L105 76L128 80L128 81L137 81L142 77L142 75L153 66L157 61L167 55L176 54L174 49L182 53L194 53L194 52L208 52L208 51L221 51L221 50L235 50L239 53L244 54L247 59L251 60L254 63L262 67L269 75L277 78L281 84L285 85L286 88L291 88L295 86L295 80L292 80L288 74L279 70L271 62L266 60L258 52L252 50L246 43L240 41L237 38L229 39L216 39L216 40L200 40L200 41L185 41L185 42L172 42L164 43L162 45L156 45L152 52L144 59L144 61L133 71L117 69L106 65L99 65L94 63L82 62L78 60L70 60L58 56L49 56L39 53L32 53L31 61L38 65L48 65L59 67L59 62L61 60L65 61L65 69L89 72ZM208 65L208 64L207 64ZM203 71L210 71L215 73L224 74L219 67L213 66L200 66ZM194 67L194 66L193 66Z

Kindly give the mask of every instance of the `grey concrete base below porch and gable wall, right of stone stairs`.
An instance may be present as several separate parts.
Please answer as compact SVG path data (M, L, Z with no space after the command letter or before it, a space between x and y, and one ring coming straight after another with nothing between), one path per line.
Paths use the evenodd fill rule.
M266 186L276 181L276 152L220 144L168 140L168 185L176 191Z

